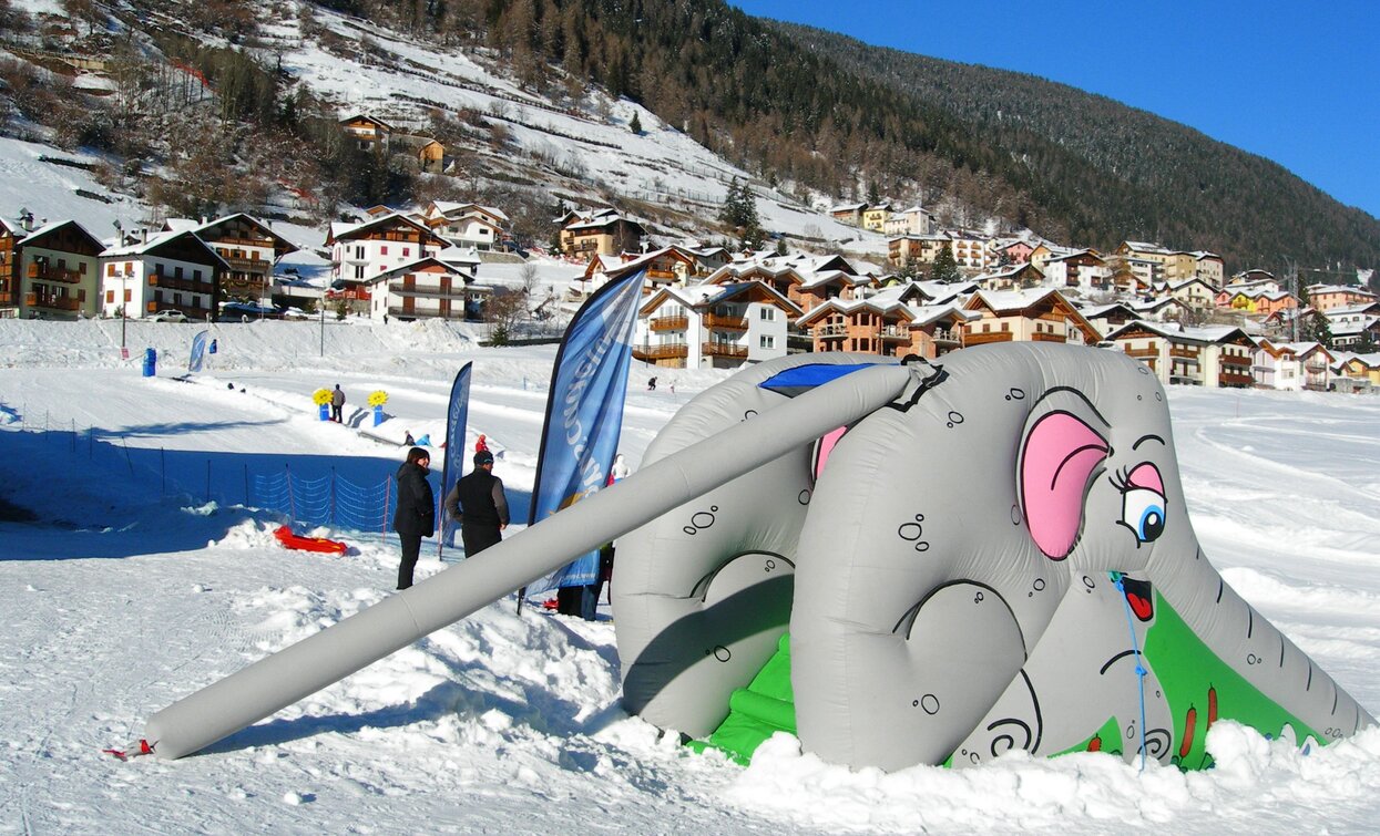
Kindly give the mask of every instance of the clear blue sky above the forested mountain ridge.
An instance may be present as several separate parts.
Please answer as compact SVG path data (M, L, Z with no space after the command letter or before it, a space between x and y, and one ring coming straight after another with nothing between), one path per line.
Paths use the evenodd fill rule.
M1380 0L730 0L1198 128L1380 218Z

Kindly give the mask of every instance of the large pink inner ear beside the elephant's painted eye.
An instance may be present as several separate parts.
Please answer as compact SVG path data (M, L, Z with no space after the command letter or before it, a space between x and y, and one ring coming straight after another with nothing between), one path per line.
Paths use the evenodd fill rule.
M1074 550L1083 519L1083 488L1107 452L1107 441L1068 412L1045 415L1025 436L1021 505L1031 537L1045 556L1063 560Z

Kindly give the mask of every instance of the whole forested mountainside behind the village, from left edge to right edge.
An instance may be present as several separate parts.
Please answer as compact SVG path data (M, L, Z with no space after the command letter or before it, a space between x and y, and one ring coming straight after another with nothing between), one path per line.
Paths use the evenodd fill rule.
M48 44L47 23L18 14L21 4L28 0L0 0L0 32L7 32L0 41ZM55 87L36 65L0 61L0 127L8 109L50 126L63 148L109 152L127 161L103 171L112 188L185 217L253 208L262 192L280 186L319 197L323 218L337 203L509 204L515 190L541 190L542 178L549 186L556 175L618 199L609 182L573 166L555 139L549 153L537 155L542 159L531 149L518 153L506 141L518 124L512 115L408 99L397 90L393 103L413 101L431 120L428 132L473 174L448 182L384 166L341 139L341 102L317 98L320 91L283 62L284 51L299 58L316 50L342 65L389 66L453 90L455 79L436 68L447 55L464 55L502 68L523 94L582 113L580 124L615 121L607 99L591 103L591 86L628 97L816 206L923 199L949 225L995 218L1006 229L1029 228L1075 246L1105 250L1130 239L1212 250L1230 270L1281 270L1288 258L1343 279L1357 266L1380 266L1380 221L1191 128L1031 76L751 18L722 0L127 0L117 7L63 0L61 7L70 19L63 40L124 68L115 95L91 99ZM388 30L433 48L435 63L385 43L379 33ZM215 90L214 112L195 106L203 94L192 84L188 95L188 72ZM185 101L171 102L171 94ZM524 170L534 166L551 171ZM656 208L644 196L636 200ZM531 201L518 214L519 232L546 233L549 206ZM708 230L712 214L701 218Z

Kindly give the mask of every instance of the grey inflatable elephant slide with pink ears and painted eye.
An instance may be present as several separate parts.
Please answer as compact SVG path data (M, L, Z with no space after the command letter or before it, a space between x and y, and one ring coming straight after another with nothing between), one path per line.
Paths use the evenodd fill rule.
M846 393L878 360L751 367L644 465L802 390ZM886 407L618 539L629 710L740 756L785 730L885 770L1010 749L1187 768L1217 719L1300 745L1374 723L1203 556L1148 368L999 344L914 371Z

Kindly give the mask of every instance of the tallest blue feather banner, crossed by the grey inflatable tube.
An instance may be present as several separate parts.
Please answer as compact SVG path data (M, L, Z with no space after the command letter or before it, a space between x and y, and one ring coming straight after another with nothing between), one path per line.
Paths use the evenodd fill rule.
M632 338L646 268L610 279L581 305L556 352L529 524L604 487L622 430ZM529 586L546 592L599 578L599 552ZM520 596L519 596L520 601Z

